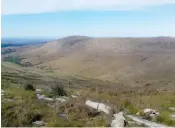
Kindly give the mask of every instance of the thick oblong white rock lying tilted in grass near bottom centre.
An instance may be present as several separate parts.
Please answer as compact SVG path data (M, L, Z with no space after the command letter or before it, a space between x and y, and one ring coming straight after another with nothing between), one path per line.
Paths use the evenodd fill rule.
M103 103L93 102L93 101L90 101L90 100L86 101L86 105L93 108L93 109L97 109L98 111L103 111L107 114L109 114L110 109L111 109L109 106L107 106Z

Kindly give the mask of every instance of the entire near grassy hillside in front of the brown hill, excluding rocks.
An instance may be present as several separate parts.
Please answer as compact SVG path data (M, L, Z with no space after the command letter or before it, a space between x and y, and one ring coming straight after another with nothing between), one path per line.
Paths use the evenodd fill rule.
M9 62L2 62L1 67L1 87L5 91L1 110L4 127L35 126L32 122L37 120L46 122L47 127L109 126L112 114L90 109L85 105L88 99L110 105L114 113L124 111L125 114L135 115L145 108L156 109L160 112L156 122L175 126L169 118L172 113L169 107L175 106L175 89L170 86L129 87L78 76L63 77L55 72ZM43 94L49 97L53 97L53 85L62 85L69 100L65 103L40 101L34 91L24 89L27 84L43 89ZM71 95L77 94L77 99L71 98ZM60 117L60 114L65 117Z

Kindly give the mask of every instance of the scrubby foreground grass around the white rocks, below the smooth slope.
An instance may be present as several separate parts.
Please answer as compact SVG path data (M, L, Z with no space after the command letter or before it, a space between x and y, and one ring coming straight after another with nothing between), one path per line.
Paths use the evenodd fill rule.
M6 86L7 84L10 86ZM5 97L15 100L15 102L2 100L3 126L32 126L35 118L44 120L49 127L109 126L113 113L124 111L125 114L136 114L145 108L152 108L160 112L161 115L157 118L157 122L175 126L174 122L168 118L169 107L175 106L175 95L172 92L152 91L148 94L146 90L139 93L137 90L122 92L98 88L71 89L69 97L72 94L80 94L80 96L77 99L69 98L65 103L57 103L56 109L53 109L44 102L38 102L34 92L25 91L18 85L11 86L11 84L10 82L4 83L3 86L6 92ZM111 115L107 116L103 112L99 113L87 107L85 105L87 99L111 106ZM65 117L60 117L59 114L65 114Z

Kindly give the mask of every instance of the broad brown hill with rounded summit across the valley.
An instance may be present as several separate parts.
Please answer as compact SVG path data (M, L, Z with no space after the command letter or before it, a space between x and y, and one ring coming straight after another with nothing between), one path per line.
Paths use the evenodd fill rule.
M23 52L22 63L129 86L175 83L175 38L71 36Z

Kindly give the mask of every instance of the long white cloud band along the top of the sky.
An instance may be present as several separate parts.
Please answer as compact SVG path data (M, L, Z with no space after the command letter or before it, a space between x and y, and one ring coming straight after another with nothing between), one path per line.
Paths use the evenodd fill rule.
M64 10L133 10L165 4L175 4L175 0L3 0L2 14Z

